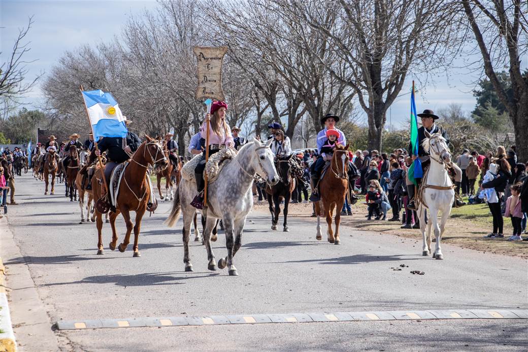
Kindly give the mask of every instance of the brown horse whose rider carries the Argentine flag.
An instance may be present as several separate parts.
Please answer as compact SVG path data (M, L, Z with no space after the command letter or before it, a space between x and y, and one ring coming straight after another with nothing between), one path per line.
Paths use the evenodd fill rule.
M119 213L122 214L127 226L127 233L123 242L117 246L119 252L125 252L130 243L130 234L134 230L134 257L140 257L138 249L139 231L141 229L141 220L145 211L147 210L147 202L150 195L150 189L147 182L147 168L148 165L153 165L155 168L164 168L167 164L167 158L163 153L161 143L149 136L145 135L146 141L143 142L137 151L134 153L132 160L128 164L123 174L119 194L116 200L116 212L110 212L110 226L112 228L112 242L109 247L112 251L117 246L117 231L116 218ZM93 198L99 199L105 194L104 186L102 186L102 171L97 170L92 177L92 191ZM130 211L136 212L136 224L130 218ZM103 254L102 245L102 217L101 213L95 210L96 224L98 233L97 254Z

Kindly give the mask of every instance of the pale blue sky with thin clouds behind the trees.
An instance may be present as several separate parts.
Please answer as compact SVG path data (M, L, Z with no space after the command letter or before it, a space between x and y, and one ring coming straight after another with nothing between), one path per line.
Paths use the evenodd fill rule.
M140 15L145 8L152 10L155 1L23 1L0 0L0 47L1 61L7 59L18 29L27 25L27 19L34 16L33 27L26 39L31 41L31 51L25 59L37 61L29 65L27 78L39 73L49 72L53 64L66 50L74 50L81 44L95 45L120 35L121 27L130 15ZM526 59L523 60L526 67ZM457 64L462 66L463 61ZM433 79L435 83L428 87L418 87L417 110L430 108L438 110L451 103L462 105L467 112L473 110L476 100L472 90L478 79L476 73L468 69L452 69L450 77L440 72ZM406 94L411 86L412 76L406 81ZM409 95L399 97L387 115L388 123L392 117L395 127L402 127L409 116ZM39 87L27 95L25 103L38 107L42 102Z

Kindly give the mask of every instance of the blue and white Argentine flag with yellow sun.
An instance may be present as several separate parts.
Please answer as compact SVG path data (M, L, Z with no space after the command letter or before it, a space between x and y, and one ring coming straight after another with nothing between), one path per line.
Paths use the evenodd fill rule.
M83 91L82 97L88 109L93 137L126 137L127 126L116 99L102 90Z

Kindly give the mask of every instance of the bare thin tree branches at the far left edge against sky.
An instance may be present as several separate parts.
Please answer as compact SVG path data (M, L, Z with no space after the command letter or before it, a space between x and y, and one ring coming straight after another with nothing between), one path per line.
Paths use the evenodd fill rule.
M29 18L27 27L18 31L18 37L13 45L9 59L2 62L0 66L0 98L4 108L7 106L18 106L19 101L25 94L29 93L36 81L42 76L36 76L33 80L25 81L28 73L27 64L35 62L25 61L24 55L31 50L29 43L23 43L25 36L31 29L33 17ZM0 52L0 54L2 54ZM3 109L4 109L3 108Z

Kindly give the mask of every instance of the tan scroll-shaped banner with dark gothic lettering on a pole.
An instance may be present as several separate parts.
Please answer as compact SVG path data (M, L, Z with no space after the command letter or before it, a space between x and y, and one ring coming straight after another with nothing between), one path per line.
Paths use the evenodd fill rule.
M194 47L198 60L198 87L196 99L212 98L224 100L222 90L222 61L228 47Z

